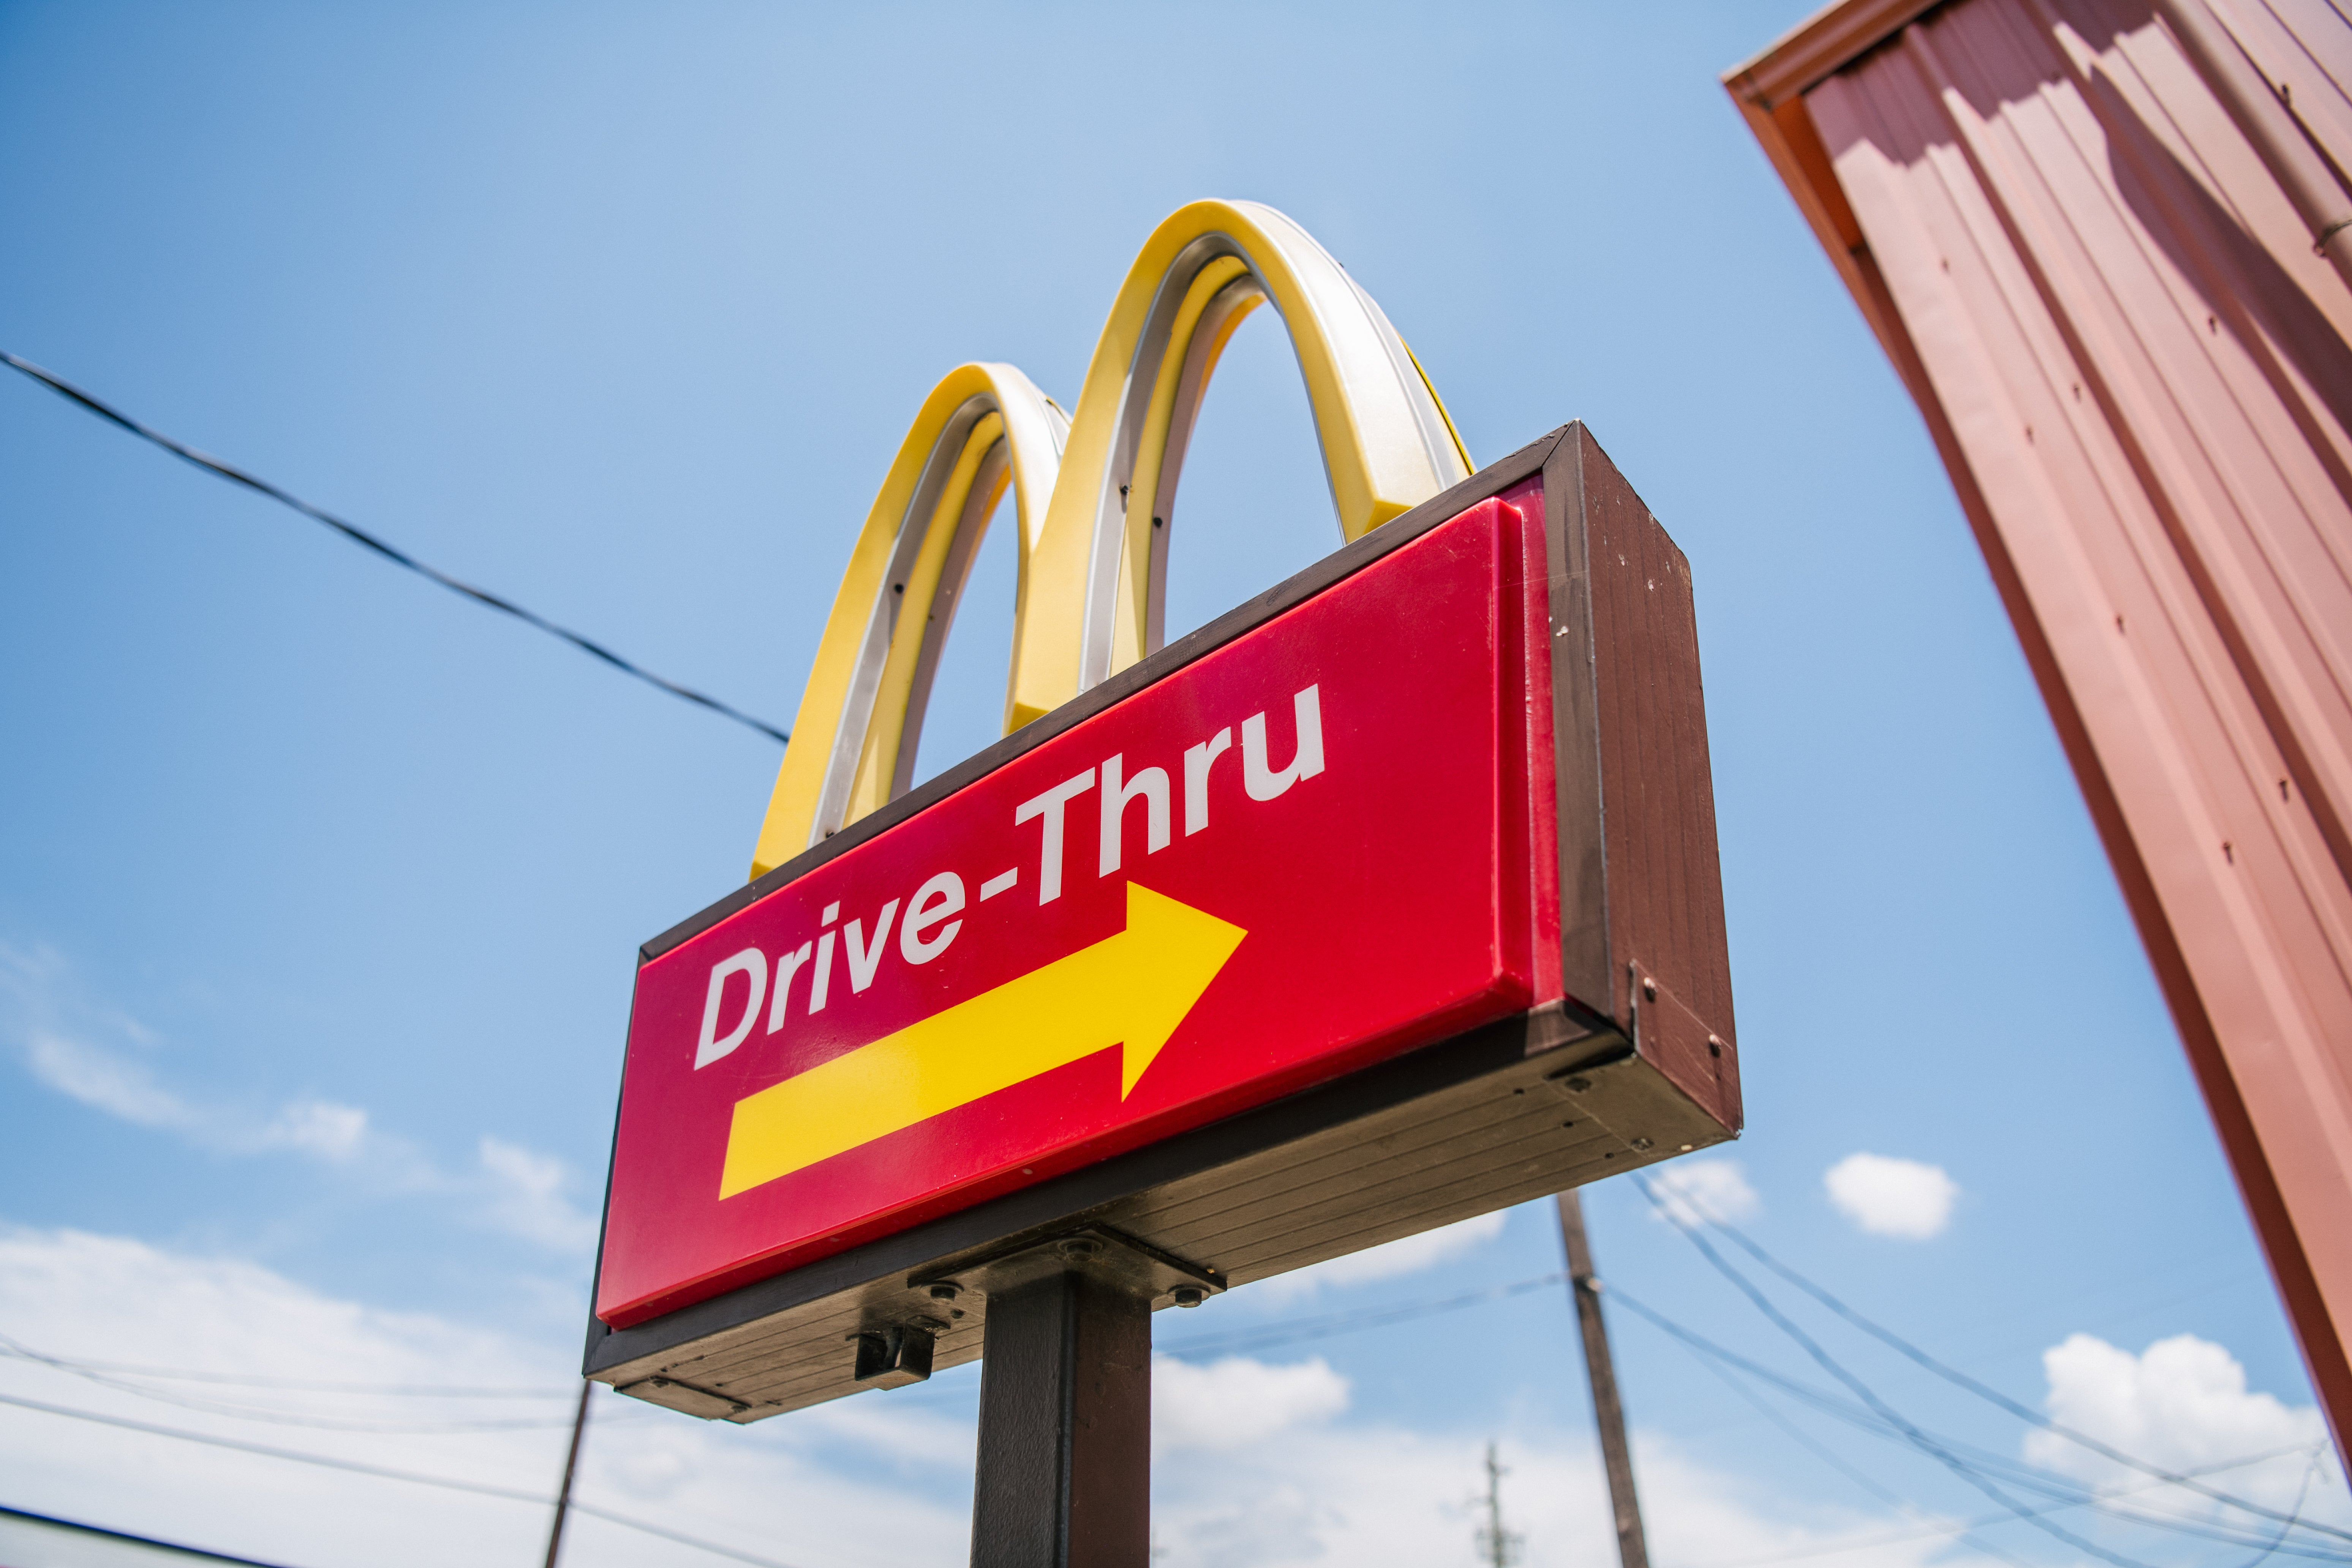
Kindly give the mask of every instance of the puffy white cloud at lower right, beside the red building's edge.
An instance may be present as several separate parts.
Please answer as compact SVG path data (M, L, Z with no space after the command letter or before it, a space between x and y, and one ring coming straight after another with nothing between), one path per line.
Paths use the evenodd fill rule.
M2300 1497L2305 1516L2336 1523L2352 1516L2319 1410L2249 1392L2246 1368L2211 1340L2180 1333L2133 1356L2100 1338L2074 1333L2042 1352L2042 1373L2049 1378L2051 1420L2060 1427L2178 1474L2281 1448L2298 1450L2209 1481L2251 1502L2293 1509L2317 1458L2321 1472L2310 1476L2312 1493ZM2140 1472L2056 1432L2025 1434L2025 1458L2093 1486L2145 1481ZM2204 1514L2218 1507L2183 1488L2164 1488L2161 1495L2171 1509Z

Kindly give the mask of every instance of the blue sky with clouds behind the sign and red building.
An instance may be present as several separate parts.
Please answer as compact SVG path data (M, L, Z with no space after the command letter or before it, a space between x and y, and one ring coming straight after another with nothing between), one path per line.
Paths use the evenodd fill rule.
M1750 1114L1691 1192L2150 1460L2293 1450L2230 1472L2286 1507L2312 1399L2072 776L1912 404L1715 85L1799 14L7 2L0 346L786 722L936 376L1011 360L1070 402L1152 223L1282 207L1475 458L1581 416L1691 557ZM1171 632L1336 543L1270 313L1176 527ZM924 773L993 736L1007 534ZM741 879L771 743L16 376L0 736L0 1333L529 1396L132 1392L24 1359L0 1394L550 1490L633 952ZM1858 1152L1943 1171L1947 1213L1867 1164L1842 1208L1825 1175ZM1820 1380L1637 1192L1588 1204L1611 1281ZM1468 1563L1498 1439L1529 1561L1597 1568L1557 1291L1183 1349L1557 1267L1526 1208L1162 1319L1169 1561ZM1792 1415L1889 1502L1658 1331L1613 1333L1661 1568L2096 1561L1936 1535L1990 1505ZM1924 1425L2114 1479L1832 1342ZM235 1396L153 1399L191 1387ZM583 1495L797 1568L953 1559L974 1389L741 1432L607 1399ZM536 1425L485 1427L508 1418ZM5 1505L303 1566L513 1561L543 1530L9 1406L0 1455ZM2347 1521L2331 1462L2307 1507ZM2143 1563L2249 1556L2074 1519ZM595 1519L572 1552L720 1561Z

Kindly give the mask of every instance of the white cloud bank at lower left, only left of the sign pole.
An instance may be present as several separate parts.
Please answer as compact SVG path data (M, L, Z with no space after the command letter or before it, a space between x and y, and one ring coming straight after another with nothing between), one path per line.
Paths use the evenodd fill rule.
M216 1375L524 1389L534 1396L426 1399L115 1378L200 1406L188 1408L0 1356L0 1394L12 1399L532 1497L555 1490L579 1389L569 1335L534 1345L339 1300L245 1260L71 1229L0 1225L0 1331L47 1354ZM419 1429L452 1422L524 1425ZM400 1429L339 1429L350 1425ZM891 1406L891 1396L731 1427L600 1394L579 1495L800 1568L884 1568L964 1554L969 1521L953 1497L969 1467L969 1422ZM539 1502L318 1469L5 1403L0 1474L16 1507L263 1561L492 1568L539 1561L546 1549L548 1509ZM593 1516L579 1516L564 1537L567 1568L682 1561L710 1559Z

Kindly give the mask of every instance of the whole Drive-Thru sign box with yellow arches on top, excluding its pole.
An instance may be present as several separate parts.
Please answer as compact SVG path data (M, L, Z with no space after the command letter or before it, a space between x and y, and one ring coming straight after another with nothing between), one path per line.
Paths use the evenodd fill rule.
M1263 303L1345 543L1162 646ZM1007 489L1009 733L910 788ZM1040 1248L1197 1305L1738 1126L1689 564L1583 425L1472 473L1322 247L1200 202L1075 418L967 364L901 447L753 882L642 950L586 1366L760 1420L978 1356Z

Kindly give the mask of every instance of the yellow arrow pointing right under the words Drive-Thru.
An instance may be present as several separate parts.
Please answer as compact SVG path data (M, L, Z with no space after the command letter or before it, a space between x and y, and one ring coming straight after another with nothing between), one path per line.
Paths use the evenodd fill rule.
M720 1197L1124 1046L1120 1098L1249 936L1127 884L1127 929L736 1100Z

